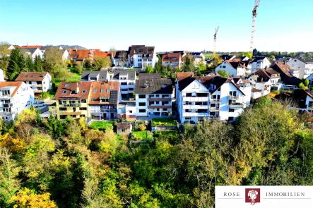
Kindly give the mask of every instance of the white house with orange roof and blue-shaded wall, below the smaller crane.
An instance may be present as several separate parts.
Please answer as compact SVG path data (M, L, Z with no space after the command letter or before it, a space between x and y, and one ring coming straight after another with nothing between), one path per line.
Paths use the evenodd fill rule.
M240 59L225 60L215 68L215 73L221 70L229 73L230 77L244 76L247 70L245 64Z

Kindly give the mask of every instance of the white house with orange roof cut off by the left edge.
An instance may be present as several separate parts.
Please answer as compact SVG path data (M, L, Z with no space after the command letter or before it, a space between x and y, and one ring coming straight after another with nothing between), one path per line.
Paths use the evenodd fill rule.
M0 117L12 121L34 104L34 90L24 82L0 82Z

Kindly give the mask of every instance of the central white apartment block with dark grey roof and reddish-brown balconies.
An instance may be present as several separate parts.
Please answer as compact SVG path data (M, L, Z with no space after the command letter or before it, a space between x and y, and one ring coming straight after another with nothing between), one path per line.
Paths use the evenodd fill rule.
M172 115L175 90L170 79L139 79L136 82L136 118Z

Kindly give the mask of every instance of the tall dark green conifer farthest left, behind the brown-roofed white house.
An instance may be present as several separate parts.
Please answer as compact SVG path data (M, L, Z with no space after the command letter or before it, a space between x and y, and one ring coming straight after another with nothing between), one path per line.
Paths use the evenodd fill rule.
M9 80L15 80L20 71L25 68L25 59L19 48L11 51L10 59L8 60L8 69L6 75Z

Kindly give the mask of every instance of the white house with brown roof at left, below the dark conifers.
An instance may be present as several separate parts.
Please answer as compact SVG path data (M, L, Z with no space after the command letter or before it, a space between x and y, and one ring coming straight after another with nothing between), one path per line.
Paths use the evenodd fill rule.
M47 72L21 72L16 81L22 81L28 84L35 92L47 92L51 90L52 77Z

